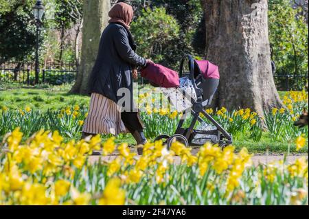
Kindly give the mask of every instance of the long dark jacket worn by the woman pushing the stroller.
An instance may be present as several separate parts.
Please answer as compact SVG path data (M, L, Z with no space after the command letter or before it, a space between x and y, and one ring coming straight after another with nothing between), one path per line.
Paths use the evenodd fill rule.
M146 59L138 56L135 49L130 31L121 24L110 23L101 36L89 93L100 93L117 103L122 98L117 96L118 89L128 88L133 100L133 68L146 66Z

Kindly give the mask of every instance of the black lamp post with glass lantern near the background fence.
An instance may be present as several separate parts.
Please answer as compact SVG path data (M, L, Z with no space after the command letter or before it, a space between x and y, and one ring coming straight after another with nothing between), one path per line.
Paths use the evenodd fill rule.
M40 27L42 25L42 16L44 14L44 6L41 0L37 0L32 8L35 23L36 23L36 65L35 65L35 84L38 84L38 74L40 72L40 65L38 62L38 36L40 34Z

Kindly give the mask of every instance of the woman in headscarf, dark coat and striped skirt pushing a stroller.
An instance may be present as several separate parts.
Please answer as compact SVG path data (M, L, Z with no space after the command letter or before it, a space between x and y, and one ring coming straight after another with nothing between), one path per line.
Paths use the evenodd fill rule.
M96 134L130 132L138 145L144 145L146 138L139 114L133 112L133 77L137 78L137 67L146 67L146 60L135 53L136 45L130 33L133 8L126 3L117 3L108 12L111 19L101 36L98 57L89 79L91 102L89 115L82 128L82 138ZM119 110L117 102L122 96L119 89L130 91L130 108ZM141 149L138 150L141 154Z

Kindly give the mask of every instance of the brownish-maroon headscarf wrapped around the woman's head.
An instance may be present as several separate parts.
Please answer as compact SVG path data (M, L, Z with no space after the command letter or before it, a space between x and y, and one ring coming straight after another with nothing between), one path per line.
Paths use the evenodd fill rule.
M130 29L133 14L134 12L131 5L124 2L116 3L108 12L108 16L111 17L108 23L122 23L122 25Z

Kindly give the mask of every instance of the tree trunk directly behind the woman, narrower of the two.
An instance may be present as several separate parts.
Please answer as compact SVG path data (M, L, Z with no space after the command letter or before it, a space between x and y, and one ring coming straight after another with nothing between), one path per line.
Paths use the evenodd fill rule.
M110 0L84 0L82 57L76 83L70 93L87 94L89 75L97 58L100 36L108 24L110 8Z

